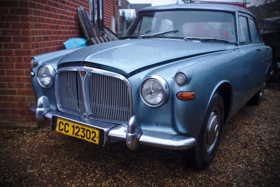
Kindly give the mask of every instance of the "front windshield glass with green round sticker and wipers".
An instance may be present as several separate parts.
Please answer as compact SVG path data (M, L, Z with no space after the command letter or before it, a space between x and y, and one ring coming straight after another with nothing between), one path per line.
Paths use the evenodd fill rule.
M158 11L139 13L122 37L166 32L158 37L204 37L236 42L234 14L218 11Z

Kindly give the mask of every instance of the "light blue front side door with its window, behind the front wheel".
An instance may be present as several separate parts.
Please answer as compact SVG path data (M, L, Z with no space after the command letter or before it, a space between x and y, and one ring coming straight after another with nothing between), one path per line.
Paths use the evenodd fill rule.
M243 53L244 87L243 104L247 103L256 92L258 86L260 51L256 50L249 27L249 18L246 14L239 14L239 43Z

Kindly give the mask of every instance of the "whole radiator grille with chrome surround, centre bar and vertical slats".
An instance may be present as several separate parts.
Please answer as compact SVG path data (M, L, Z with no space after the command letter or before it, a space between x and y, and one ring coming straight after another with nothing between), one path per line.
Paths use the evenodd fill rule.
M86 72L81 81L80 71ZM55 79L57 108L89 118L126 123L132 115L131 88L117 73L91 67L62 67Z

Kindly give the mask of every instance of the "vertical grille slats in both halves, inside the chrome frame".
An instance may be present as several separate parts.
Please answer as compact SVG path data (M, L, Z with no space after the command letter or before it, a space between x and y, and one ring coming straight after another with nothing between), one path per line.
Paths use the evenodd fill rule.
M129 119L129 88L122 79L88 73L87 81L82 82L80 72L62 71L59 75L58 96L61 109L64 112L83 115L85 108L84 97L91 110L90 118L110 122L125 123ZM89 80L89 81L88 81ZM89 87L90 95L84 95L83 86Z

